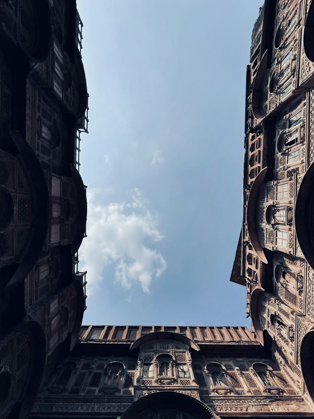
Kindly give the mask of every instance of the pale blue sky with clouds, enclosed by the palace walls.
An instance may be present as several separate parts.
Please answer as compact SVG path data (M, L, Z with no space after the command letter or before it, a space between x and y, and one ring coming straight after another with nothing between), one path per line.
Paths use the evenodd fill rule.
M89 92L83 324L249 326L245 72L262 0L77 0Z

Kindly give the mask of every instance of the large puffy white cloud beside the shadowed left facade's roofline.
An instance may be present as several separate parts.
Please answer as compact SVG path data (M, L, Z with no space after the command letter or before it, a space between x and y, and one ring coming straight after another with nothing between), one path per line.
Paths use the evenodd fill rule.
M115 281L125 288L140 282L149 292L152 279L160 277L166 269L165 259L147 246L147 241L160 241L157 219L146 209L138 189L129 204L97 201L97 191L87 190L88 237L79 250L80 271L88 271L89 294L103 281L103 267L115 264ZM145 243L145 244L144 244Z

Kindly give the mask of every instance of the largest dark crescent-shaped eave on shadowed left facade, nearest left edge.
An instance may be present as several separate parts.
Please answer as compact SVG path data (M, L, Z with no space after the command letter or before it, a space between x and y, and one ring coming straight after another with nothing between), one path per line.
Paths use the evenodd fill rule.
M49 194L46 178L39 160L28 142L17 131L11 131L10 134L21 158L23 158L25 169L28 171L28 176L32 183L35 210L33 214L33 233L29 239L30 243L23 254L21 263L6 285L7 289L18 285L31 272L44 246L49 223Z

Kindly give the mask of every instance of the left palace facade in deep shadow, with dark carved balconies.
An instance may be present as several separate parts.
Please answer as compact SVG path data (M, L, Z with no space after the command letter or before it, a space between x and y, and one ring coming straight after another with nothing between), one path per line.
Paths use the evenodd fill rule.
M26 419L86 308L88 93L75 0L4 0L0 23L0 417Z

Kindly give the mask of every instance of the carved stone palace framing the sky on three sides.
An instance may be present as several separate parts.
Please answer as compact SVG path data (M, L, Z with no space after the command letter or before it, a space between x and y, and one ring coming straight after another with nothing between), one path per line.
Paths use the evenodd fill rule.
M88 93L75 0L0 3L0 419L314 412L314 0L265 0L252 32L246 327L81 326Z

